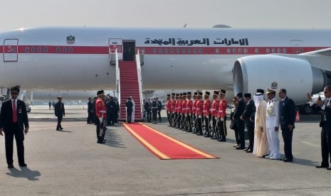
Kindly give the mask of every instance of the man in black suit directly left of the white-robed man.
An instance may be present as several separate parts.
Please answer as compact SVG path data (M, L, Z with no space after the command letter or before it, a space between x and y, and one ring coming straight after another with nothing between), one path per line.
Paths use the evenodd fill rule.
M243 95L245 97L246 102L246 108L243 111L243 115L241 115L241 120L245 121L245 125L248 131L248 140L249 140L249 146L245 148L244 150L246 153L253 153L253 147L254 147L254 118L253 115L255 114L255 104L252 99L251 93L246 93Z

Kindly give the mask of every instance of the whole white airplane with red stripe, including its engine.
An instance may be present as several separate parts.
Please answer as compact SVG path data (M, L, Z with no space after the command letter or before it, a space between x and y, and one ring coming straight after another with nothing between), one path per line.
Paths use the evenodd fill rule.
M317 28L21 28L0 33L0 90L116 89L116 50L119 60L140 59L144 90L273 87L304 103L307 92L331 84L330 35Z

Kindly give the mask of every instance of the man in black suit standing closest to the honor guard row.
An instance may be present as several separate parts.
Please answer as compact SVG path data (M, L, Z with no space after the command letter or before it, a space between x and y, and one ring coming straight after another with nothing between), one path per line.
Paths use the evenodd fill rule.
M245 122L241 120L241 116L243 115L243 111L245 111L246 103L243 100L243 93L238 92L236 94L236 98L238 100L238 105L236 107L236 111L233 114L233 119L236 121L236 126L238 129L240 146L236 147L236 150L243 150L245 148Z

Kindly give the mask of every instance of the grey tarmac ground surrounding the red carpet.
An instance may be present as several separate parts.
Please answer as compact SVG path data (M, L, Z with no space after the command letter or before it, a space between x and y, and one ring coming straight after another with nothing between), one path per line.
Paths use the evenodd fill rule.
M107 142L96 140L86 124L83 106L65 106L63 131L48 106L28 114L27 168L7 168L0 136L0 195L330 195L331 170L321 161L320 116L300 116L293 133L293 163L257 158L226 142L186 133L162 123L149 124L162 133L211 153L219 159L159 160L121 124L109 126ZM165 116L164 111L162 115ZM227 126L229 121L227 121ZM283 153L281 133L280 151ZM247 141L246 141L247 143ZM15 146L15 145L14 145Z

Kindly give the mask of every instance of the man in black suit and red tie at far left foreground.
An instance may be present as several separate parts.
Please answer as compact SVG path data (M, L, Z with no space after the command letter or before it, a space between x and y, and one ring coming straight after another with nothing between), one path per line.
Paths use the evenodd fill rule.
M14 135L19 165L21 167L26 167L26 163L24 161L23 141L24 134L28 134L28 114L26 112L26 104L17 99L17 97L19 97L19 90L20 89L18 86L11 87L11 99L2 104L0 112L0 135L3 136L2 132L4 131L8 168L14 168Z

